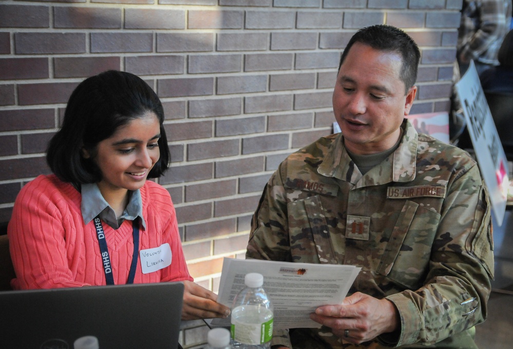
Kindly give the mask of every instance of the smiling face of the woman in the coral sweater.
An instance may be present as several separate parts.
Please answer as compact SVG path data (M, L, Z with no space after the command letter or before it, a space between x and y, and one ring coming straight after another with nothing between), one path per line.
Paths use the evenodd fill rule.
M107 202L107 197L126 195L127 190L144 185L149 171L160 158L159 139L159 120L155 113L147 112L98 143L92 160L102 172L98 187ZM86 150L83 155L90 157Z

